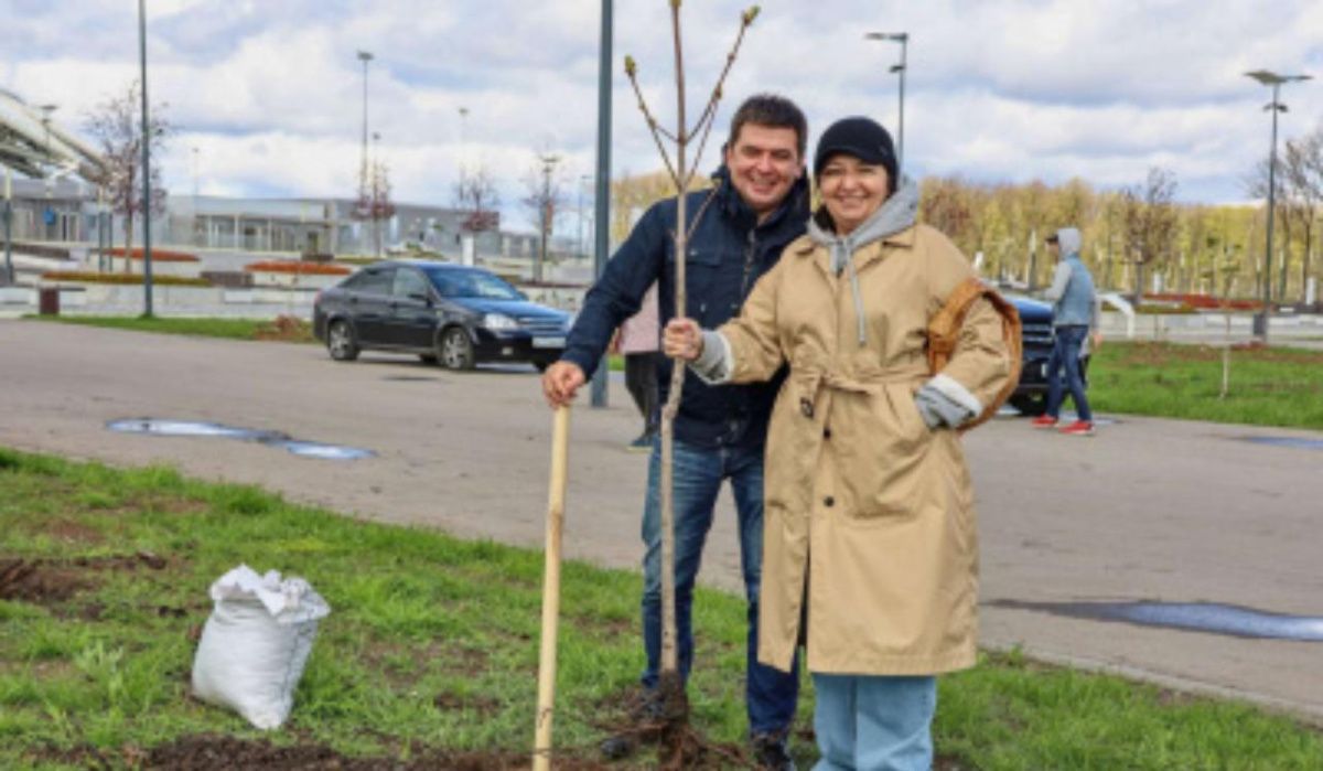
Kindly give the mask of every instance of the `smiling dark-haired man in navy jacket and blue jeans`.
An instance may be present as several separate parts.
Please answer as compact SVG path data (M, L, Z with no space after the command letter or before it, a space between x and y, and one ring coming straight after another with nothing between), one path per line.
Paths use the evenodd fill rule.
M730 121L724 163L714 191L689 192L691 217L701 219L685 256L688 307L675 307L676 199L643 215L602 277L589 290L566 340L565 354L542 374L542 392L552 407L568 404L597 368L611 334L639 310L648 286L658 282L659 321L676 315L716 327L740 306L799 237L808 220L804 176L807 122L791 101L773 94L746 99ZM709 195L716 196L704 209ZM658 396L665 403L671 360L658 367ZM798 669L785 673L758 664L758 588L762 574L763 445L771 404L782 378L770 383L710 387L685 375L684 397L675 420L675 591L676 635L681 674L693 662L691 609L703 547L712 527L721 482L729 480L738 517L740 556L747 600L747 672L745 702L750 741L765 768L794 768L786 735L795 714ZM655 695L662 656L660 446L648 464L643 510L643 648L642 682ZM655 702L652 702L655 703ZM646 707L647 709L647 702Z

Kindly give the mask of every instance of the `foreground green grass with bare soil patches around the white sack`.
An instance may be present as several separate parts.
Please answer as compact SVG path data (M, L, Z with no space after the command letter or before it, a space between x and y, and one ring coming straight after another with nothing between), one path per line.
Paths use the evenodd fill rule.
M188 695L206 590L241 562L302 575L332 607L273 742L402 762L519 756L532 743L537 551L364 523L161 468L5 449L0 490L3 768L128 767L183 737L265 737ZM19 560L41 580L7 586ZM570 755L594 756L634 689L639 588L632 572L565 566L556 745ZM695 625L692 723L738 745L742 601L700 590ZM792 743L804 768L811 701L806 688ZM1323 767L1319 733L1289 718L1013 653L942 678L935 735L947 768Z

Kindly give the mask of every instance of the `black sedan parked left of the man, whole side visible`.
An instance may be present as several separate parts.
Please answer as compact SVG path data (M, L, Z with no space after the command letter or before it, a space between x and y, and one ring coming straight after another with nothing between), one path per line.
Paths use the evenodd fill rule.
M318 295L312 331L331 358L360 351L417 354L450 370L480 362L560 358L570 314L529 302L482 268L415 260L369 265Z

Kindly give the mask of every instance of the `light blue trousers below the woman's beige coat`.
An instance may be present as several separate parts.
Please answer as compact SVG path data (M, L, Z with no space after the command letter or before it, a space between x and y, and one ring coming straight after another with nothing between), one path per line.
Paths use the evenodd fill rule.
M927 771L935 677L814 674L814 771Z

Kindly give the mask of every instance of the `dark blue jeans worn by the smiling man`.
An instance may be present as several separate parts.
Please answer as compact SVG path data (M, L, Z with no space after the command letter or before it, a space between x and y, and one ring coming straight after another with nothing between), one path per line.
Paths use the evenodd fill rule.
M798 662L790 673L758 664L758 582L762 578L762 448L704 449L675 442L675 619L680 673L693 665L693 583L703 544L712 529L712 509L722 480L730 480L740 529L740 564L749 603L745 705L751 734L790 727L799 695ZM643 686L655 688L662 664L662 441L652 445L648 493L643 509Z

